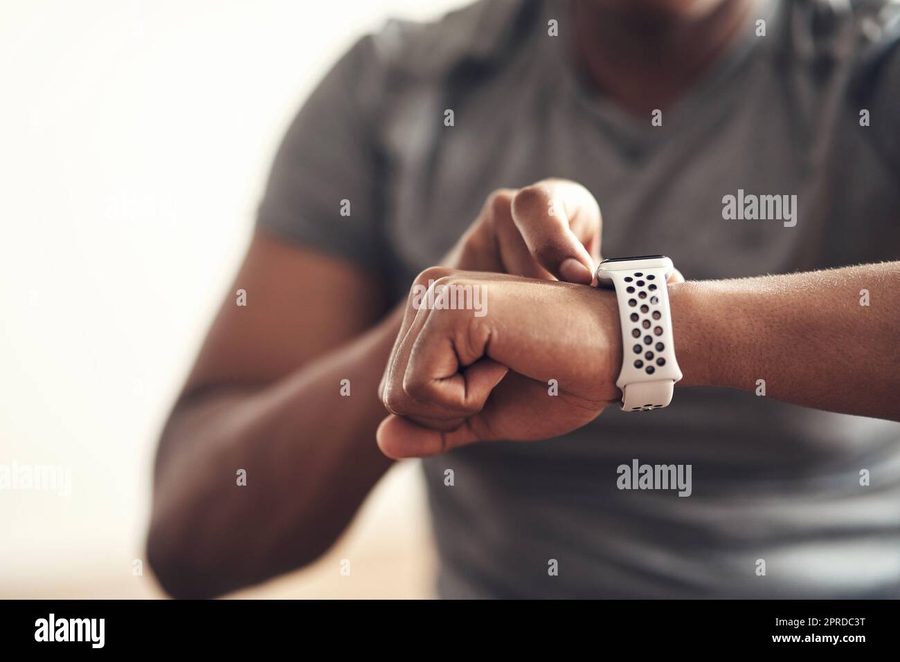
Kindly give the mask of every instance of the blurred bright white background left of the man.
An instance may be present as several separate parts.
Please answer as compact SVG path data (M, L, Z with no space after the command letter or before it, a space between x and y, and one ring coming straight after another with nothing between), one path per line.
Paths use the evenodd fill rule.
M156 437L250 236L288 122L382 0L0 4L0 597L161 595L143 558ZM430 592L414 464L312 568L241 595ZM352 561L351 577L338 559Z

